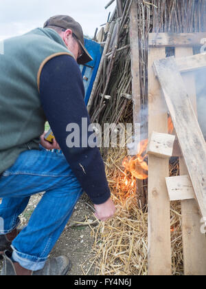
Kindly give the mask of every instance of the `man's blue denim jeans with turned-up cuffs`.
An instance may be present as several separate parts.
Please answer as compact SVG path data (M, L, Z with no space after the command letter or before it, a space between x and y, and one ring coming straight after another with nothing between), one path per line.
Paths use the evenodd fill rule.
M65 157L41 149L25 151L0 177L0 235L19 225L30 196L45 192L27 226L12 242L14 261L40 270L65 228L82 188Z

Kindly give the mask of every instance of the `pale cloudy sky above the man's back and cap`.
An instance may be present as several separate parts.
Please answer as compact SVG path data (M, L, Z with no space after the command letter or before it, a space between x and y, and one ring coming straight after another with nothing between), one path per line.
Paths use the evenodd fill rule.
M105 9L109 0L0 0L0 40L43 27L49 17L67 14L82 25L85 35L106 23L115 2Z

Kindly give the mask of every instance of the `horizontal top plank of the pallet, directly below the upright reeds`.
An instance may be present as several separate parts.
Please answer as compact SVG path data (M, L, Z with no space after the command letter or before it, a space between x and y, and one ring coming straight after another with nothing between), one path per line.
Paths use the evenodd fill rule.
M150 33L149 45L152 47L192 47L201 45L206 32L200 33Z

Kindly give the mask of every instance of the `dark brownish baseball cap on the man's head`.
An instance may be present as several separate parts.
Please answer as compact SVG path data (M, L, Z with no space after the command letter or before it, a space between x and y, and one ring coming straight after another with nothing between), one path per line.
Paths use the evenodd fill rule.
M44 24L43 28L52 28L52 26L57 26L62 29L71 29L72 33L76 36L76 39L80 46L82 47L83 54L78 58L78 64L84 64L89 61L93 61L93 58L84 46L84 34L80 23L76 22L72 17L68 15L56 15L50 17Z

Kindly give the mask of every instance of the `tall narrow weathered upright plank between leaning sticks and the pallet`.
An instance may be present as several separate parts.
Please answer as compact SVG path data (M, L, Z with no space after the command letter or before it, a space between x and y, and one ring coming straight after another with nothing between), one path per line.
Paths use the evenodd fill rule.
M135 128L135 142L140 142L141 131L141 99L140 99L140 83L139 83L139 43L137 30L137 4L133 1L130 8L130 58L132 73L132 90L133 90L133 122ZM137 125L139 124L139 125ZM137 147L137 145L135 146ZM143 180L136 180L139 200L142 206L145 206L146 200L144 195Z

